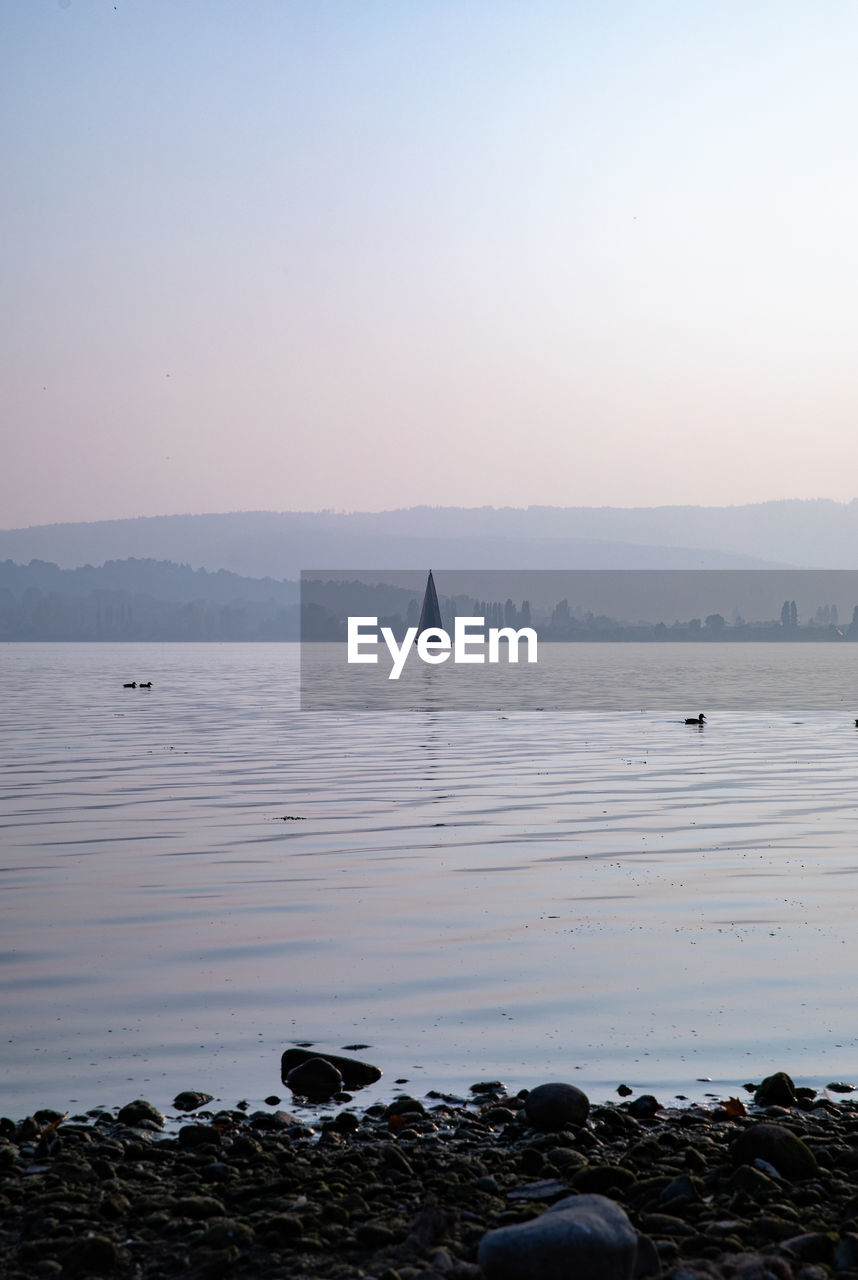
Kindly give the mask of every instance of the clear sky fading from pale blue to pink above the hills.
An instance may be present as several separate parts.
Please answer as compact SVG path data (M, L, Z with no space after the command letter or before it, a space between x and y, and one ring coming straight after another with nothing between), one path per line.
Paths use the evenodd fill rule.
M0 527L858 493L854 0L0 0Z

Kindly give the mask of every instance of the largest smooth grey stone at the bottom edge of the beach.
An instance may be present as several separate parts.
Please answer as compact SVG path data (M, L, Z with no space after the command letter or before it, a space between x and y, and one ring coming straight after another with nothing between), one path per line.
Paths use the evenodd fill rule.
M660 1270L652 1240L604 1196L572 1196L488 1231L478 1262L487 1280L634 1280Z

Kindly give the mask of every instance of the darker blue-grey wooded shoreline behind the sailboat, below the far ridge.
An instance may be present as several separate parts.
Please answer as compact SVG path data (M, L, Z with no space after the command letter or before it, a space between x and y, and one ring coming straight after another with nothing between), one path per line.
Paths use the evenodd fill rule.
M0 640L261 641L344 640L353 614L378 618L398 640L417 625L421 595L388 584L245 579L163 561L109 561L93 568L60 570L32 561L0 562ZM779 618L745 621L709 613L684 621L631 622L558 600L531 608L529 600L441 600L449 630L457 616L482 617L487 627L533 626L557 641L843 641L858 639L858 605L841 623L836 604L807 618L784 600Z

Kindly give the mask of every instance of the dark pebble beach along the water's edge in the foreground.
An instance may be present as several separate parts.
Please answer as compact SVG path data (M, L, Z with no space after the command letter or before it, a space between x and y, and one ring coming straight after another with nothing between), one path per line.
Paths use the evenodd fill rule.
M595 1196L651 1242L648 1274L858 1276L846 1085L835 1098L777 1073L744 1100L685 1108L647 1094L590 1106L561 1088L578 1114L489 1080L365 1110L182 1094L168 1116L134 1100L1 1119L0 1275L546 1280L544 1261L487 1261L487 1234Z

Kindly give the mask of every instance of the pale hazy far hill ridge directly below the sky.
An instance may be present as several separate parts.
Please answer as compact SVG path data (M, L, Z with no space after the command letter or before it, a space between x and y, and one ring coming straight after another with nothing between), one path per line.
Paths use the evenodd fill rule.
M0 531L0 559L302 568L853 568L858 499L739 507L410 507L145 516Z

